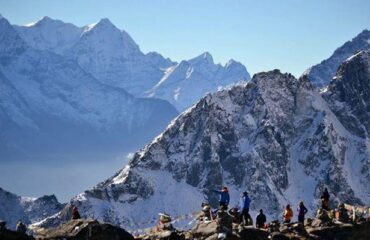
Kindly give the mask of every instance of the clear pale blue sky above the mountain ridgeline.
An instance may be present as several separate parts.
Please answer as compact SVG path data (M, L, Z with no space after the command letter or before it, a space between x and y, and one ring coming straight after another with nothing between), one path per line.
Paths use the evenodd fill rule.
M179 61L210 52L251 73L279 68L299 76L363 29L369 0L0 0L23 25L43 16L78 26L109 18L144 52Z

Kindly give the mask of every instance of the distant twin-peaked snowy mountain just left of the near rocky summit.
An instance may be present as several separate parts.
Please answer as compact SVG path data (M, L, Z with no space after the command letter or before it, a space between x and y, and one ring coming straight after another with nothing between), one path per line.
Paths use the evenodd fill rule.
M215 64L212 55L204 52L168 68L148 95L164 98L183 111L207 92L249 79L249 73L241 63L232 60L225 66Z

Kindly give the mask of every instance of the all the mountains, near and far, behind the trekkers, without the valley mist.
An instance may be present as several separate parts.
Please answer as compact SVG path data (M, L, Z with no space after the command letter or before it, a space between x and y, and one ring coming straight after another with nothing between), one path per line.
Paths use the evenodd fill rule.
M300 200L312 213L324 187L333 204L369 204L370 52L360 51L368 35L299 79L273 70L250 80L241 63L215 64L208 52L179 63L144 54L108 19L15 26L0 17L1 161L135 149L169 123L62 211L51 197L58 207L29 216L35 199L2 190L9 204L0 213L11 225L54 214L38 223L49 227L78 206L84 217L141 227L159 212L216 206L212 190L224 185L231 205L246 190L251 210L270 217Z

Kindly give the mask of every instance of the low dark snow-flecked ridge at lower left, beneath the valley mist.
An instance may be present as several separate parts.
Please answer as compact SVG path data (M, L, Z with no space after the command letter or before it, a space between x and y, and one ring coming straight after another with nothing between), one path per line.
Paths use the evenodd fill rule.
M64 207L54 195L40 198L19 197L0 188L0 220L15 229L18 220L31 224L52 216Z

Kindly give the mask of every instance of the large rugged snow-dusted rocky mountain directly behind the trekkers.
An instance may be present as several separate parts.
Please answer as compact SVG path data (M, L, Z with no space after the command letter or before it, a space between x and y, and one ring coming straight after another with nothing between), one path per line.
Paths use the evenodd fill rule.
M354 57L345 64L362 66L357 61ZM362 80L354 82L370 81L364 67L341 69L338 74L343 76L357 69ZM302 199L314 213L324 186L331 204L369 204L367 135L347 130L335 112L335 106L343 105L336 97L342 90L360 90L356 84L336 84L333 80L330 91L321 95L306 77L297 80L274 70L209 94L137 152L123 170L71 204L84 216L121 226L142 226L163 211L173 216L194 212L205 200L216 205L218 196L212 190L223 185L229 187L231 206L247 190L252 211L262 208L275 217L280 217L282 206ZM361 105L348 105L357 107ZM68 219L70 207L42 224Z

